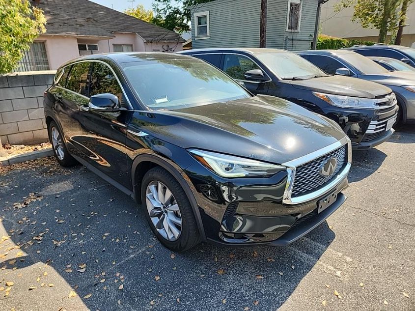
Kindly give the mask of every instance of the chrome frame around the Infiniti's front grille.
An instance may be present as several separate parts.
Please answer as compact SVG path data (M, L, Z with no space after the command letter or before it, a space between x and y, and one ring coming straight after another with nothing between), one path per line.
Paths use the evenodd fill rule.
M294 185L294 180L295 180L296 168L300 165L303 165L321 156L324 156L325 154L330 153L333 150L340 148L346 143L348 144L346 167L341 172L337 173L337 176L332 180L332 182L330 182L323 188L320 188L312 193L309 193L309 194L306 194L300 197L291 198L291 193L293 190L293 185ZM300 203L304 203L307 201L311 201L331 191L332 189L337 187L343 181L344 178L347 177L347 175L349 174L350 168L352 166L352 142L350 141L349 137L345 136L341 140L336 141L324 148L311 152L303 157L294 159L292 161L281 163L281 165L287 167L287 173L288 173L287 184L285 186L284 195L282 197L282 203L292 205L292 204L300 204Z

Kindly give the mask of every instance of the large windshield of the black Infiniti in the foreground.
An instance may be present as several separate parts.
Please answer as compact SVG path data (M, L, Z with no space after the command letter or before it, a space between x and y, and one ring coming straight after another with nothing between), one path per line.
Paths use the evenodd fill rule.
M163 59L122 66L139 99L152 110L182 109L251 96L241 85L201 60Z

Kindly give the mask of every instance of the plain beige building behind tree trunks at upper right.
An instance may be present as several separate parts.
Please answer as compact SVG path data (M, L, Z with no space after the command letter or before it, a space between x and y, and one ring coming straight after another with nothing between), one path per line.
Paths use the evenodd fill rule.
M379 30L362 28L359 23L351 22L353 7L334 12L337 2L339 0L330 0L322 5L321 32L334 37L377 42ZM402 45L410 47L415 42L415 2L408 8L406 24L408 26L403 31Z

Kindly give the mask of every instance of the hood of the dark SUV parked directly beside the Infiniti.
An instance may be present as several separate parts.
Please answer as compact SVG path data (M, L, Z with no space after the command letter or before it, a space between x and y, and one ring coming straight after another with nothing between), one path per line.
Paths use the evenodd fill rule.
M364 98L375 98L392 92L390 88L383 85L343 76L290 81L290 83L299 89Z

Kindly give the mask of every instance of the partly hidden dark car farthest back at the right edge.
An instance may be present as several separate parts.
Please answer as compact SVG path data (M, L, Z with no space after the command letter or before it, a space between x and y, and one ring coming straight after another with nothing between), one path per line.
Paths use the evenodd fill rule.
M347 48L363 56L382 56L395 58L415 67L415 49L401 45L364 45Z

